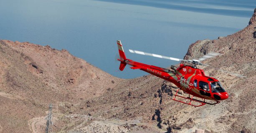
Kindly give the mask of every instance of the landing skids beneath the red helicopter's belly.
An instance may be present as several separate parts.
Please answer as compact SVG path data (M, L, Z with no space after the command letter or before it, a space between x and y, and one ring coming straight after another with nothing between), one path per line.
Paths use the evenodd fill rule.
M203 99L203 101L200 101L200 100L197 100L197 99L193 99L194 96L192 96L192 97L190 98L190 95L189 95L189 97L179 96L179 95L177 95L177 93L178 93L179 90L180 90L180 89L177 89L176 94L174 95L174 98L173 98L172 100L178 101L178 102L181 102L181 103L185 103L185 104L188 104L188 105L191 105L191 106L195 106L195 107L203 106L203 105L205 105L205 104L214 105L214 104L220 103L220 101L215 101L215 103L208 103L208 102L205 102L205 99ZM190 102L187 103L187 102L184 102L184 101L177 100L177 99L176 99L176 96L181 97L181 98L183 98L183 99L188 99L188 100L190 100ZM194 104L191 103L192 101L198 102L198 103L200 103L200 105L194 105Z

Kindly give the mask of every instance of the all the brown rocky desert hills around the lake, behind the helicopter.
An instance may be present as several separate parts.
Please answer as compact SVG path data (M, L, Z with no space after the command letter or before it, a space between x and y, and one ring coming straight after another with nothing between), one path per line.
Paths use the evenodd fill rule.
M44 132L49 103L54 132L255 133L255 16L235 34L190 45L185 59L221 53L200 68L230 95L196 108L172 101L176 86L155 76L119 79L66 50L0 40L0 133Z

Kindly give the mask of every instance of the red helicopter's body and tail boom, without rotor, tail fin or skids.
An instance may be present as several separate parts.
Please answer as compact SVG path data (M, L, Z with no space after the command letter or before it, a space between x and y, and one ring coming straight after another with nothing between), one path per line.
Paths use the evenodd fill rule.
M122 62L122 60L118 60ZM228 94L223 88L221 88L221 91L213 91L213 83L220 84L220 82L213 77L205 76L205 73L202 69L180 64L177 69L173 69L173 71L171 71L170 69L165 69L158 66L134 62L130 59L126 59L123 62L125 64L131 65L131 69L140 69L170 81L179 87L182 91L185 91L186 93L193 96L208 100L228 99Z

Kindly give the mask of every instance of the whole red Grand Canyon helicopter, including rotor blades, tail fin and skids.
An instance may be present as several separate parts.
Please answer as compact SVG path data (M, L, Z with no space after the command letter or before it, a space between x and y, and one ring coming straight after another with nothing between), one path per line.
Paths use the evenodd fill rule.
M120 55L120 59L117 59L117 60L121 62L119 67L121 71L123 71L126 64L128 64L132 66L130 67L131 69L140 69L142 71L146 71L147 73L158 76L162 79L170 81L173 84L175 84L179 89L189 94L188 97L179 96L177 95L177 92L179 91L179 89L177 89L176 94L174 95L174 98L172 100L198 107L198 106L203 106L205 104L210 104L210 105L217 104L217 103L220 103L221 100L228 99L228 93L225 91L225 89L223 89L220 81L218 81L213 77L206 76L202 69L198 69L196 67L196 65L207 66L205 64L202 64L200 60L217 56L219 55L218 53L212 52L212 53L206 54L203 58L200 58L198 60L196 59L185 60L185 59L177 59L177 58L166 57L158 54L150 54L146 52L129 49L129 52L132 52L135 54L148 55L152 57L170 59L175 61L184 61L184 62L193 64L193 66L180 64L178 68L176 66L171 66L170 68L172 70L169 70L169 69L161 68L158 66L152 66L152 65L139 63L139 62L134 62L131 59L127 59L124 54L124 49L122 47L120 40L117 40L117 46L118 46L119 55ZM192 97L190 97L190 95L192 95ZM184 99L184 100L188 99L188 100L187 101L177 100L176 96L181 99ZM194 99L194 97L198 97L203 100L201 101L198 99ZM205 99L212 100L214 101L214 103L206 102ZM193 104L194 102L196 104Z

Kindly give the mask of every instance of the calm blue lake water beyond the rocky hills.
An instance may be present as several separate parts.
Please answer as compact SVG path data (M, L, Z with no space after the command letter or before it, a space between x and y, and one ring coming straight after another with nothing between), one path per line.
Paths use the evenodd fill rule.
M116 40L127 58L167 67L179 62L145 57L134 49L183 58L196 40L217 39L248 25L255 0L1 0L0 39L56 49L121 78L144 71L118 71Z

